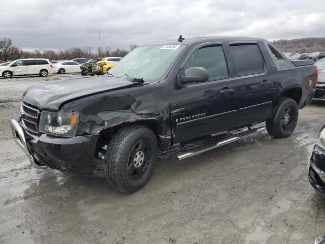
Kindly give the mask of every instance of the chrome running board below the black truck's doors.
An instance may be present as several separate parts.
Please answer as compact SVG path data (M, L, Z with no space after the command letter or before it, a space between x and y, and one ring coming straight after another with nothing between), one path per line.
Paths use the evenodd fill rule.
M239 139L248 137L248 136L250 136L253 133L257 133L257 132L260 132L260 131L264 131L265 129L266 129L265 127L258 127L258 128L254 128L254 129L249 129L247 131L243 131L243 132L240 132L238 134L235 134L235 135L233 135L232 137L230 137L230 138L228 138L226 140L219 141L217 144L215 144L213 146L210 146L210 147L207 147L207 148L203 148L201 150L197 150L197 151L188 152L188 153L185 153L185 154L178 155L177 158L178 158L178 160L187 159L187 158L193 157L195 155L202 154L205 151L209 151L211 149L217 148L219 146L223 146L223 145L229 144L231 142L238 141Z

